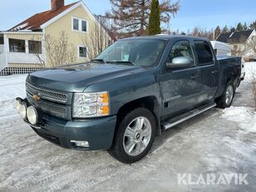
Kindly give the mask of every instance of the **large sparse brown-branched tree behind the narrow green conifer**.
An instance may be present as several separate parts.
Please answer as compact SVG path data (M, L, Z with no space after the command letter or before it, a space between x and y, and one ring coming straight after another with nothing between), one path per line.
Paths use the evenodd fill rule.
M110 0L111 12L106 12L106 18L113 23L111 31L117 37L133 37L146 34L149 26L151 0ZM162 0L160 3L160 22L168 24L180 9L180 2Z

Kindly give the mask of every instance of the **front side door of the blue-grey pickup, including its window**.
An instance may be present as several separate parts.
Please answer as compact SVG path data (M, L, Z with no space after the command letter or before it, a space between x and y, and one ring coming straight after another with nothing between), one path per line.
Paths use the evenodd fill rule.
M181 69L168 69L161 78L163 116L177 116L199 104L199 69L195 67L194 52L187 40L175 42L167 62L176 57L187 57L191 65Z

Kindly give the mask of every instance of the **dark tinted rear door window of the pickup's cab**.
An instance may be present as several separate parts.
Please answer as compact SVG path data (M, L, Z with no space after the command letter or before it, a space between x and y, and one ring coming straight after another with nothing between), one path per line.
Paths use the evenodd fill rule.
M194 41L194 47L199 60L199 66L210 65L214 63L214 56L211 52L208 42Z

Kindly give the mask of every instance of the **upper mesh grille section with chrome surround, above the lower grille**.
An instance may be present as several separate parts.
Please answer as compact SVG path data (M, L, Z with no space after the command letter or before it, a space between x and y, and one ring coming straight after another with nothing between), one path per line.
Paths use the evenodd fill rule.
M34 94L40 95L40 97L42 99L46 99L46 100L50 100L50 101L59 101L62 103L66 103L66 101L67 101L67 95L64 93L40 89L40 88L32 86L28 83L26 83L26 90L31 95L34 95Z

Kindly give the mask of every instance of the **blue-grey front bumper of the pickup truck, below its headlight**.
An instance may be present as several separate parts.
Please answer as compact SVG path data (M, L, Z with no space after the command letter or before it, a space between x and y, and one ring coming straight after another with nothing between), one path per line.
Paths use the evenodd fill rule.
M68 149L105 150L112 145L116 128L116 116L107 116L83 121L67 121L42 114L37 126L31 125L42 138ZM71 140L88 141L89 147L77 147Z

